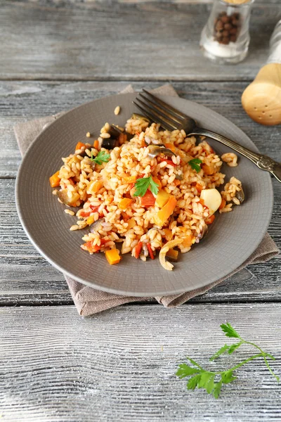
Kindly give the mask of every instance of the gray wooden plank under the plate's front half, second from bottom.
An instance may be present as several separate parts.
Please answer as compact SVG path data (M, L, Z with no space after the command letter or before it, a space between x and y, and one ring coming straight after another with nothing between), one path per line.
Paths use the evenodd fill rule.
M13 198L14 184L12 179L0 179L0 304L71 303L63 274L39 255L20 225ZM275 207L269 231L281 246L281 191L280 188L275 191ZM248 267L250 272L244 269L192 302L280 301L280 258L251 265Z

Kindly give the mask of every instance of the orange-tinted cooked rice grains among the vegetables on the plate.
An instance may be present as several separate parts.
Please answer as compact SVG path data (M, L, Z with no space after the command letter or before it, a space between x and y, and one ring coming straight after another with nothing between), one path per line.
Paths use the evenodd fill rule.
M109 129L110 125L106 123L100 130L100 145L110 136ZM122 254L130 252L137 257L136 248L141 242L140 257L145 261L151 256L148 246L155 254L168 241L176 241L181 252L188 252L194 243L200 241L204 227L209 224L209 209L200 202L201 190L223 185L222 160L235 166L237 155L228 153L220 158L206 141L196 144L195 136L186 137L183 130L162 130L159 124L149 126L146 120L138 117L127 120L125 129L134 135L131 141L126 141L124 134L121 145L112 151L99 147L100 151L110 154L110 160L102 165L93 165L90 157L96 157L99 151L90 144L63 158L64 165L59 172L60 190L66 191L70 200L74 198L72 206L83 205L76 213L77 224L70 230L84 229L99 220L98 228L91 226L91 232L82 238L85 243L81 248L90 253L95 246L105 252L116 248L116 243L122 243ZM168 143L167 148L172 148L176 156L150 158L148 145L158 143ZM198 173L188 164L193 158L202 161ZM160 208L156 204L145 207L141 205L140 197L133 196L135 186L132 180L150 175L157 177L162 189L176 198L174 213L163 226L155 224ZM98 191L94 188L97 181L101 182ZM233 203L239 205L235 194L240 188L241 182L231 177L221 192L226 205L220 212L230 212ZM119 203L124 198L133 201L126 210L121 210ZM70 210L65 212L71 214ZM166 267L171 266L167 264Z

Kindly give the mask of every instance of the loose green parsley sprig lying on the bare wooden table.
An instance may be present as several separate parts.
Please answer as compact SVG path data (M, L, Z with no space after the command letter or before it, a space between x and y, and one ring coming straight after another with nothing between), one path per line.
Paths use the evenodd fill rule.
M232 383L237 378L236 376L233 376L233 372L236 369L240 368L240 366L251 362L253 359L257 359L258 357L263 357L268 371L270 371L270 373L276 378L278 382L280 381L280 378L275 375L275 373L268 364L268 358L275 360L275 357L273 357L269 353L264 352L261 347L259 347L255 343L244 340L237 333L237 331L235 331L235 329L233 328L233 326L230 325L229 322L227 322L226 324L221 324L221 329L223 330L223 333L226 334L226 337L238 338L239 342L234 343L233 345L224 345L223 347L221 347L220 350L218 350L218 352L216 352L215 354L213 354L213 356L210 357L210 361L214 361L214 359L218 358L219 356L221 356L221 354L225 352L228 352L228 354L232 354L233 352L235 352L235 350L238 349L238 347L243 344L256 347L256 349L259 350L259 353L254 354L248 359L243 360L242 362L240 362L240 364L237 364L230 369L226 369L226 371L206 371L204 368L202 368L202 366L197 364L195 360L190 359L190 357L187 357L188 361L193 366L188 366L187 364L180 364L178 366L178 371L176 371L176 376L178 376L179 378L192 376L188 380L188 390L195 390L196 387L204 388L209 394L214 395L214 397L217 399L220 395L222 385Z

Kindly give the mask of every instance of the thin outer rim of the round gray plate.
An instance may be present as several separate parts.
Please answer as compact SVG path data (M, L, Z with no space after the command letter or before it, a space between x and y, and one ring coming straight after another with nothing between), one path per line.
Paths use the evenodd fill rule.
M44 257L44 259L49 262L53 267L55 267L55 269L58 269L58 271L60 271L61 273L63 273L65 276L70 277L70 279L72 279L73 281L78 281L79 283L82 283L85 286L89 286L91 288L96 288L97 290L101 290L107 293L114 293L117 295L125 295L125 296L133 296L136 298L141 298L141 297L147 297L148 295L150 296L159 296L159 295L180 295L183 293L187 293L188 291L192 291L195 290L194 287L188 288L188 286L186 286L186 288L178 288L178 290L174 289L171 291L167 291L167 290L157 290L155 293L145 293L145 291L143 292L135 292L135 291L129 291L129 290L119 290L116 288L110 288L110 287L103 287L100 286L96 283L87 281L79 276L76 276L74 274L72 274L71 271L67 271L67 269L63 269L63 267L61 267L59 264L56 264L51 258L48 257L48 255L45 254L45 252L43 250L41 250L40 246L37 244L36 241L34 241L34 239L32 238L32 235L30 234L30 232L28 231L27 227L25 226L25 220L24 217L22 215L22 212L20 210L20 195L19 195L19 190L20 190L20 175L22 172L22 169L25 165L25 161L28 159L28 154L30 153L30 151L32 150L32 148L34 148L34 145L39 141L39 139L41 138L41 136L44 136L44 132L48 131L48 129L50 127L53 127L53 125L57 124L57 122L60 119L63 119L63 117L67 116L69 113L72 113L74 110L78 110L79 108L83 108L85 106L89 106L92 103L96 103L98 101L102 101L104 98L113 98L113 97L117 97L117 96L128 96L129 98L134 98L136 95L138 94L138 92L134 92L134 93L120 93L120 94L113 94L110 96L104 96L101 98L96 98L95 100L92 101L87 101L86 103L82 103L77 107L74 107L70 110L67 110L65 113L63 113L63 115L60 115L58 118L56 118L53 122L51 122L50 124L48 124L48 126L46 126L34 139L34 141L32 141L32 143L30 144L30 146L28 146L27 151L25 151L25 155L23 155L22 160L20 162L20 165L18 167L18 172L17 172L17 176L16 176L16 180L15 180L15 206L16 206L16 210L18 213L18 217L20 219L20 224L22 225L22 228L25 231L25 234L27 235L27 238L29 238L30 242L32 243L32 245L34 245L34 248L36 248L38 250L38 252L40 253L40 255L42 257ZM158 94L157 94L158 95ZM211 110L212 113L215 113L217 116L223 117L224 120L228 120L228 122L230 122L231 124L233 124L233 126L235 126L236 129L239 129L244 136L247 137L247 140L249 140L251 143L253 143L254 148L256 149L256 151L259 151L258 148L256 147L256 145L254 144L253 141L251 141L251 139L249 138L249 136L242 131L242 129L240 129L240 127L238 127L235 123L231 122L231 120L229 120L227 117L224 117L223 115L221 115L220 113L217 113L216 111L212 110L211 108L207 107L207 106L203 106L202 104L196 103L195 101L190 101L186 98L181 98L180 96L176 97L176 96L170 96L170 95L160 95L159 97L163 97L163 99L169 99L169 98L178 98L181 99L183 101L187 101L188 103L193 103L196 104L197 106L200 106L200 108L204 108L205 110L209 111ZM261 170L262 171L262 170ZM258 248L259 244L261 243L263 237L265 236L266 232L268 231L268 226L270 224L270 220L272 218L272 213L273 213L273 203L274 203L274 196L273 196L273 184L271 182L271 178L270 178L270 174L268 172L264 172L265 173L265 177L268 178L268 181L270 181L269 186L270 186L270 212L268 212L268 217L266 220L266 224L265 224L265 229L263 231L260 232L260 236L259 236L259 243L257 245L255 245L252 248L249 248L249 253L247 252L247 257L245 258L244 262L252 255L252 253L254 252L254 250L256 250L256 248ZM221 276L220 279L228 279L228 277L230 276L231 273L237 272L237 268L240 267L244 262L238 264L237 266L235 266L235 269L231 269L227 274L225 274L224 276ZM239 271L239 270L238 270ZM208 281L207 284L204 284L204 286L200 286L197 287L196 289L202 289L202 288L207 288L211 283L215 283L216 281L218 281L219 279L216 279L214 281Z

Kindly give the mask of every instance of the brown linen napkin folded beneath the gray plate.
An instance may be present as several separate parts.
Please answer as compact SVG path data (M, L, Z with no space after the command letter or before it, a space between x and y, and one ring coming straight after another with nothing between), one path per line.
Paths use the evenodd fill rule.
M153 91L156 94L164 94L171 96L178 95L170 84L154 89ZM126 89L124 89L121 94L125 94L127 92L134 92L133 87L131 87L131 85L126 87ZM34 141L34 139L39 135L41 130L48 126L48 124L53 122L56 118L60 117L60 115L62 115L63 113L64 112L61 112L57 115L41 117L37 120L31 120L30 122L17 124L14 127L14 130L15 137L18 141L18 146L20 148L20 153L24 155L25 151L27 151L28 146L30 146L30 143ZM89 316L91 314L96 314L97 312L104 311L105 309L110 309L112 307L123 305L124 303L137 302L140 300L156 299L157 302L162 303L162 305L164 305L165 307L176 307L178 305L183 304L187 300L194 298L197 295L202 295L203 293L206 293L208 290L222 283L223 281L228 279L233 274L236 274L238 271L240 271L247 265L258 264L259 262L266 262L275 255L277 255L278 252L279 250L275 245L273 239L269 236L269 234L266 234L266 236L264 236L263 240L261 241L261 244L254 251L254 253L252 253L251 256L242 265L240 265L240 267L235 269L235 271L232 271L230 274L228 274L228 276L223 277L222 279L219 279L214 283L209 284L208 286L197 288L195 290L182 293L181 295L169 295L157 298L136 298L134 296L121 296L115 295L113 293L106 293L101 290L96 290L88 286L84 286L84 284L81 284L68 276L65 276L65 279L70 288L70 293L72 294L72 298L74 300L75 306L77 307L77 311L81 316Z

